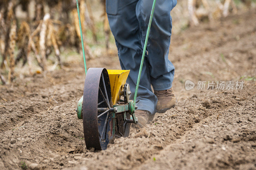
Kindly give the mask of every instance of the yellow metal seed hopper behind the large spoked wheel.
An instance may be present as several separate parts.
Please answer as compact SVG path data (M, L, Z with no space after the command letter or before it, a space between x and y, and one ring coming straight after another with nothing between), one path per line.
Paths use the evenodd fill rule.
M125 84L129 73L130 70L108 70L113 104L120 100L119 93L122 91L122 86Z

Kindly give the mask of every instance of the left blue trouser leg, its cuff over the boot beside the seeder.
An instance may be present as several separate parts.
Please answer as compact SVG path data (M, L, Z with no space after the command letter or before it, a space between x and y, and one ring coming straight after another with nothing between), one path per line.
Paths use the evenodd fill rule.
M140 43L139 22L135 12L137 2L138 0L107 0L106 2L108 21L116 40L120 65L122 69L131 70L127 78L132 92L131 99L133 99L135 92L143 50ZM153 114L155 113L157 98L151 90L148 68L148 57L146 56L141 72L136 105L138 110L148 110Z

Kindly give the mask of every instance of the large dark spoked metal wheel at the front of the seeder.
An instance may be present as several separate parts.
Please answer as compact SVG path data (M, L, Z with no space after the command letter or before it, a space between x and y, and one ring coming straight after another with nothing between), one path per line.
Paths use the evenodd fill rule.
M113 135L113 105L108 72L89 68L84 82L83 126L87 149L106 149Z

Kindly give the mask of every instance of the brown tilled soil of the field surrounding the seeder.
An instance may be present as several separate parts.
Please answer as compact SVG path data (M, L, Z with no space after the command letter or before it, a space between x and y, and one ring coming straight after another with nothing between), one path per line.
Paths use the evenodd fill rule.
M87 150L76 103L83 65L0 86L0 169L256 169L256 12L172 35L176 106L105 151ZM119 69L116 55L87 62ZM244 81L243 89L187 91L186 80ZM206 84L207 86L207 84Z

